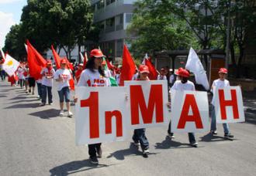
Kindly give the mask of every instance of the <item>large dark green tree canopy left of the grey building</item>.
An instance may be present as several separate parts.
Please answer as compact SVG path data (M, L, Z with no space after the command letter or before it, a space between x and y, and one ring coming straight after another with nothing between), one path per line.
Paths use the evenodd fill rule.
M67 58L81 46L92 30L92 12L88 0L28 0L22 9L22 29L40 52L51 44L64 49Z

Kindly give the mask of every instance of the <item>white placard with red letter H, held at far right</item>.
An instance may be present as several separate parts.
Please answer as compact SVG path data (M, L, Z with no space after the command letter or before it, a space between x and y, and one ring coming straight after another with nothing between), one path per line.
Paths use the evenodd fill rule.
M244 104L240 86L228 86L214 89L216 123L244 122Z

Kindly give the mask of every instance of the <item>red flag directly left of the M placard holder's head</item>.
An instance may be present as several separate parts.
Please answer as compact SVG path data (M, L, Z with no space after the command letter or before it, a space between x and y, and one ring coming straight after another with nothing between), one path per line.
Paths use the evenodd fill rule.
M136 70L136 66L133 61L133 58L132 56L130 56L130 52L127 49L126 45L124 45L123 46L123 66L122 66L121 75L120 75L120 86L124 85L125 80L132 80L135 70Z

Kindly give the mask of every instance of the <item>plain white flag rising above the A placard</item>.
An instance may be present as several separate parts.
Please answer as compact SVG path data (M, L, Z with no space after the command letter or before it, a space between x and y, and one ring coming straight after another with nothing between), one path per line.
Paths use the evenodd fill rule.
M206 90L209 90L209 82L206 76L206 71L202 66L202 63L192 47L189 50L188 61L185 65L185 69L189 69L195 74L195 82L204 86Z

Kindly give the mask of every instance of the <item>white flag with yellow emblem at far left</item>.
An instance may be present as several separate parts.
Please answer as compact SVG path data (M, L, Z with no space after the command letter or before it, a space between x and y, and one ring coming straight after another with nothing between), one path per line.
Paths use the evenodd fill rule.
M7 54L5 58L5 63L2 64L2 69L4 69L9 76L12 76L16 72L18 67L19 62L9 56L9 54Z

